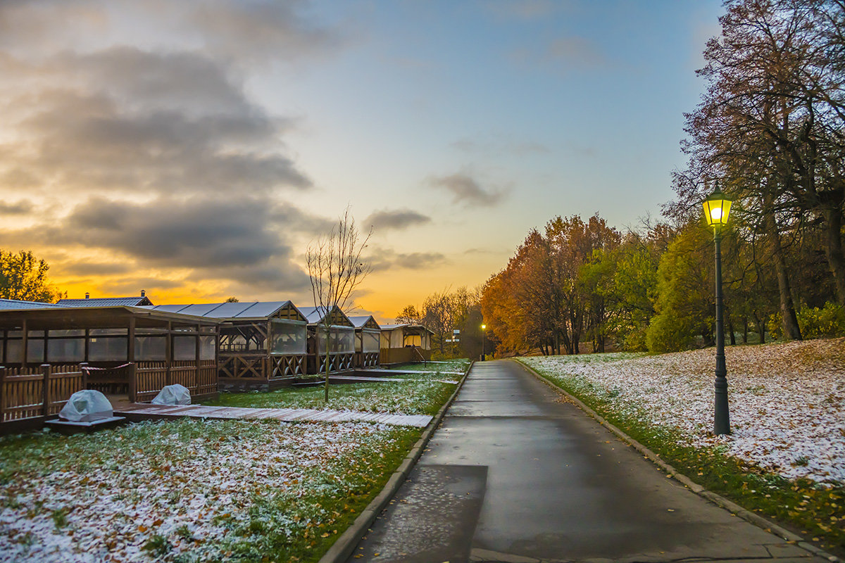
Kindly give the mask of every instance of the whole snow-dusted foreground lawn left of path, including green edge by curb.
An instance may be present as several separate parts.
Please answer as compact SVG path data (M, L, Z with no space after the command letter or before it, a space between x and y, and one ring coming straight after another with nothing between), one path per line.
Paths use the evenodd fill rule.
M2 438L0 559L316 560L418 436L179 420Z

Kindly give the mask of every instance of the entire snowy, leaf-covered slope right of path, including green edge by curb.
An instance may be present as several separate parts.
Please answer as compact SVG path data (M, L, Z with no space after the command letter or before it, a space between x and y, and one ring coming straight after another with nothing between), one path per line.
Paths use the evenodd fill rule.
M713 355L521 360L707 489L845 556L845 338L729 347L727 437L711 430Z

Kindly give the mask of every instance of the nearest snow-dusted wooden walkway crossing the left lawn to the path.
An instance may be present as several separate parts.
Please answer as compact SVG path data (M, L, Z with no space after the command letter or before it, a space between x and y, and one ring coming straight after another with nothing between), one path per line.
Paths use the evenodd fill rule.
M285 422L378 422L384 425L415 426L424 428L431 422L428 414L358 413L344 410L316 409L243 409L238 407L206 407L201 404L161 405L150 403L123 403L114 409L115 416L129 420L161 420L177 418L194 419L275 419Z

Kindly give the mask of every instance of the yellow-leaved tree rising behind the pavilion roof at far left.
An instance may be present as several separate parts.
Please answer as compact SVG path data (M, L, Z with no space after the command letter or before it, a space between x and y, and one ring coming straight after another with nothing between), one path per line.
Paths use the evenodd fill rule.
M50 266L31 251L0 249L0 297L52 303L62 297L47 279Z

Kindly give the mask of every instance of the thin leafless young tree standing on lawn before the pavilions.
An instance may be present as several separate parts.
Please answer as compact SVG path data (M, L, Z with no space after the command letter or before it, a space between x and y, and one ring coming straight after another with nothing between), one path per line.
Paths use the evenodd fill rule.
M330 232L308 246L308 277L311 279L314 307L322 316L325 334L326 402L329 401L330 338L335 309L343 311L346 308L352 293L372 269L362 257L372 234L371 228L362 237L347 207Z

